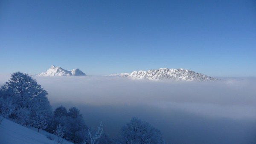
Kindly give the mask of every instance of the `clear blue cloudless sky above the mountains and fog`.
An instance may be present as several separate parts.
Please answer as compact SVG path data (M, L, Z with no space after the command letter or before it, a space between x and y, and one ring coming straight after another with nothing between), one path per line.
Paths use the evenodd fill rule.
M1 0L0 71L256 76L255 0Z

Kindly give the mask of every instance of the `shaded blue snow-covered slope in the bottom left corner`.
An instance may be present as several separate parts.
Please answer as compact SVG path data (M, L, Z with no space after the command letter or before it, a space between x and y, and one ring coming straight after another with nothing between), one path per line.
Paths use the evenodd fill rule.
M0 125L0 144L57 144L57 139L56 135L44 130L38 133L34 127L24 127L8 119L4 119ZM72 143L63 140L62 144Z

